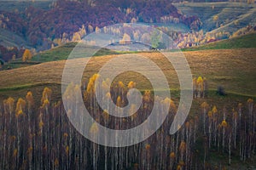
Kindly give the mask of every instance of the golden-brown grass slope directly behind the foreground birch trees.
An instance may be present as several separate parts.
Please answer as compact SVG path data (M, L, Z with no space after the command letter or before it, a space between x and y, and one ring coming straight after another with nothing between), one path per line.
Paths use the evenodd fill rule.
M172 53L175 54L175 53ZM227 91L236 94L256 95L256 48L218 49L183 52L189 61L194 76L207 77L209 88L216 89L222 85ZM140 53L152 59L164 71L171 88L178 88L176 72L172 65L160 53ZM85 69L84 77L96 73L102 65L115 55L94 57ZM79 59L75 60L79 62ZM0 71L0 94L19 87L42 84L60 84L65 60L47 62L19 69ZM113 65L119 66L119 65ZM150 69L150 68L148 68ZM150 71L150 70L148 70ZM157 75L156 75L157 76ZM135 81L138 88L148 88L145 77L127 72L119 77L123 82Z

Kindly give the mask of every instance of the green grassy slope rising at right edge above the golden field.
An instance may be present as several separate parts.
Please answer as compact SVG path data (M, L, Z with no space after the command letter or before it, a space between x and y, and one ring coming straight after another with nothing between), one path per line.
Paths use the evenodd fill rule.
M202 49L230 49L230 48L256 48L256 32L227 40L211 42L194 48L184 48L183 51L196 51Z

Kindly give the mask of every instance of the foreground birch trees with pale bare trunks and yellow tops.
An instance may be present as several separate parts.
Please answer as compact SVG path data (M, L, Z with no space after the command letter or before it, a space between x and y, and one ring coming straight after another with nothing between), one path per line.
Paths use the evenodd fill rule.
M128 90L136 88L136 83L129 82L125 86L123 82L110 82L107 79L95 86L97 78L98 75L90 77L82 90L84 104L96 122L113 129L135 127L148 117L154 100L159 108L159 117L170 106L166 121L140 144L110 148L84 139L68 121L67 114L75 113L66 113L61 102L54 103L51 89L44 88L39 101L33 99L32 92L28 92L25 99L20 98L15 102L15 99L9 98L0 105L1 169L211 169L215 165L207 161L212 148L227 153L230 164L231 156L236 156L237 150L241 161L251 159L255 154L256 106L253 99L239 104L233 111L218 111L216 106L211 107L204 102L195 116L190 116L177 133L170 135L169 129L177 111L172 99L154 98L150 91L145 91L138 111L134 111L133 105L129 108L132 116L110 116L97 104L96 89L100 89L105 101L112 99L122 107L127 105ZM108 85L111 85L110 93L105 94ZM67 100L75 99L74 94L79 89L78 85L70 84L64 97ZM40 104L39 108L36 103ZM109 110L112 110L110 106ZM94 123L90 127L90 134L96 133L98 127ZM198 146L201 139L204 142Z

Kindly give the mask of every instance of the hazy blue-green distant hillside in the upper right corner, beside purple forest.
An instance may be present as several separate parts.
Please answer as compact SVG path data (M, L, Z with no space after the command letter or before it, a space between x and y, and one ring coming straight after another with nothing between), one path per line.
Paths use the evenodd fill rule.
M256 4L247 3L175 3L174 6L188 16L198 16L204 31L234 32L256 24ZM218 20L213 20L218 16Z

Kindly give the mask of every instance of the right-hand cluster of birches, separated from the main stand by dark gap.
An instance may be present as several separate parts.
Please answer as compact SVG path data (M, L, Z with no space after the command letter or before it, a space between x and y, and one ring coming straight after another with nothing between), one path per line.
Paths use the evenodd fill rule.
M239 103L230 111L201 104L202 133L205 138L205 157L209 150L216 149L226 153L228 164L232 156L238 156L240 161L252 160L256 151L256 105L253 99L247 99L245 104Z

